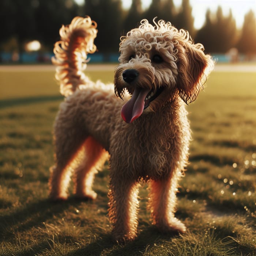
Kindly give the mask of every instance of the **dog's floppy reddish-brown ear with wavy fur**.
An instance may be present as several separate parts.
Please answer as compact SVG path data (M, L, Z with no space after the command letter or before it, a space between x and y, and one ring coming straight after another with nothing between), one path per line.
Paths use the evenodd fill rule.
M201 44L186 42L179 45L178 52L178 94L185 103L190 103L197 98L208 73L212 70L214 62L210 55L203 52Z

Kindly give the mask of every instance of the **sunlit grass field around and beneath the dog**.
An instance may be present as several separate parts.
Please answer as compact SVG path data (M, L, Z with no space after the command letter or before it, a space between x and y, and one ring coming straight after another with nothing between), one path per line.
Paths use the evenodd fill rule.
M113 80L113 72L89 75ZM151 226L144 186L138 238L118 245L107 216L107 164L94 202L48 201L52 127L63 99L54 72L0 72L0 255L256 255L255 81L253 72L213 72L188 106L191 163L176 214L187 233Z

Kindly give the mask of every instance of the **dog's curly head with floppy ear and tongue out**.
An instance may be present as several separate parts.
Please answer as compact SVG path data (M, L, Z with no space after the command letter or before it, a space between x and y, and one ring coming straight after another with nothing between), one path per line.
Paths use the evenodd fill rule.
M132 123L143 112L155 112L177 97L185 103L196 99L214 62L201 44L193 44L185 30L169 22L146 19L121 37L120 64L114 76L115 93L131 98L121 116Z

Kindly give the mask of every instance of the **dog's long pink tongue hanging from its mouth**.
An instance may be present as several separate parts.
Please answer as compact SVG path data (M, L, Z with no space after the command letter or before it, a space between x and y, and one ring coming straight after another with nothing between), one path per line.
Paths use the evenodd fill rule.
M142 89L136 87L132 98L127 101L121 109L121 116L126 123L132 123L138 118L144 109L144 100L149 93L150 89Z

